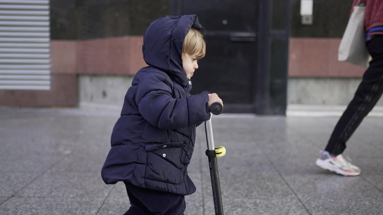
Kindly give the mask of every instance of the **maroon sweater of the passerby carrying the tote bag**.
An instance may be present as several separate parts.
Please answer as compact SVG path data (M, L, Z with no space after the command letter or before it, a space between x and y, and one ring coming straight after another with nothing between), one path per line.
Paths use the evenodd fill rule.
M354 0L352 10L358 3L358 0ZM364 16L364 28L367 31L376 26L383 26L383 0L361 0L360 3L364 3L366 7L366 14ZM372 32L372 34L383 34L383 32Z

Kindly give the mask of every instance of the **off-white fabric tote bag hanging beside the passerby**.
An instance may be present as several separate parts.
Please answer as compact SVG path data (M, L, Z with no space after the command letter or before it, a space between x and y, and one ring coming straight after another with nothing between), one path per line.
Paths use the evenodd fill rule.
M360 0L354 6L354 11L340 41L338 60L367 68L370 54L367 50L364 30L365 7L358 6L359 3Z

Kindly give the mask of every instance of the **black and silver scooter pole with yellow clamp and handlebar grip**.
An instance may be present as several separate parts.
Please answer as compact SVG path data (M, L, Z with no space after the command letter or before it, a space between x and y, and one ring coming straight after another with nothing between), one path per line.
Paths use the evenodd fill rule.
M219 102L214 102L210 106L210 112L214 115L219 115L223 111L223 106ZM211 188L213 190L213 200L216 215L223 215L221 186L219 184L218 163L217 157L226 154L224 147L214 148L213 129L211 127L211 117L208 121L205 121L206 143L208 149L206 155L209 160Z

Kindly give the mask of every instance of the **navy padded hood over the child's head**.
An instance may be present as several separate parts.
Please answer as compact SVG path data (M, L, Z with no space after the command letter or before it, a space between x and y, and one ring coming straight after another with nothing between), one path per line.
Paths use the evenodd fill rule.
M182 46L190 28L202 28L196 15L163 16L149 24L142 45L146 64L163 70L184 88L189 80L182 67Z

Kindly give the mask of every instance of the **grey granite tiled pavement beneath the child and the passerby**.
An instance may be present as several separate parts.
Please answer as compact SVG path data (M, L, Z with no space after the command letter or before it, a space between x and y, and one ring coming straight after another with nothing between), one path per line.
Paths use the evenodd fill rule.
M0 109L0 119L0 214L128 210L124 184L106 185L100 176L118 113ZM315 165L338 119L214 116L216 147L227 149L218 158L225 214L380 214L383 122L367 117L350 138L345 153L362 175L343 177ZM188 168L196 192L185 197L185 215L214 214L206 148L202 124Z

